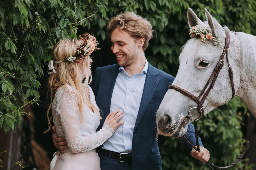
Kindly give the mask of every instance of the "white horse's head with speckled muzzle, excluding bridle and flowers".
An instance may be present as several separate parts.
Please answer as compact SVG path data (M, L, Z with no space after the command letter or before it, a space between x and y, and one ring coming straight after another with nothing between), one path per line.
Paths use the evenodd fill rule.
M192 28L199 25L199 27L207 28L212 36L218 37L221 45L214 45L210 39L206 39L203 42L200 36L188 40L180 54L180 67L173 82L173 85L187 90L196 97L199 96L216 67L223 52L226 38L224 29L206 9L205 14L207 20L203 22L189 8L187 14L189 27ZM235 34L230 33L230 39L229 49L232 50L229 50L229 62L233 68L236 93L240 76L235 63L239 62L237 58L240 55L240 44ZM203 104L204 114L207 114L217 106L227 103L231 97L232 89L225 56L224 65L218 75L218 79ZM188 111L193 107L197 107L197 103L194 100L174 89L169 89L156 114L156 123L160 134L170 137L180 137L185 134L190 122L187 117ZM200 117L197 109L192 109L191 112L192 120Z

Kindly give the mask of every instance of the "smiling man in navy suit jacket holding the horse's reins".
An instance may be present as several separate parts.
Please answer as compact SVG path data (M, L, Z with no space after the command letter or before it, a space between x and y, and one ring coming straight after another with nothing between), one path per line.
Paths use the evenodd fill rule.
M132 12L121 13L111 18L107 32L118 64L98 67L93 74L92 89L104 114L98 129L114 110L124 111L125 122L98 149L101 170L160 170L156 111L174 77L152 67L145 58L153 32L147 20ZM188 128L189 141L196 145L194 126ZM55 134L53 140L55 147L65 149L65 142ZM209 152L200 150L191 155L207 162Z

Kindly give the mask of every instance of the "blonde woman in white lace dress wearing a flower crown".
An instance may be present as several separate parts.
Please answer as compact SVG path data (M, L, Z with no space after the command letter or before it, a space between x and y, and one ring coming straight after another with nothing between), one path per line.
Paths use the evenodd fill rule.
M51 104L47 110L47 131L53 118L58 137L65 137L68 145L63 154L54 153L50 170L99 170L100 158L95 148L124 123L124 120L118 122L124 113L116 110L106 117L103 128L96 132L101 117L88 84L91 82L92 63L89 55L99 49L96 47L98 42L87 33L79 38L59 41L52 50L52 61L48 65ZM83 79L84 83L81 83Z

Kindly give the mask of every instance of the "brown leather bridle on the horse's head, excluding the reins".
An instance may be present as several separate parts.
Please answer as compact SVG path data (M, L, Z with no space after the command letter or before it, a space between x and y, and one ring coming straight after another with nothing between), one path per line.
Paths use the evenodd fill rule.
M174 89L188 97L190 97L191 99L193 99L196 103L197 103L197 107L193 107L191 109L197 109L200 116L196 119L196 120L199 120L201 118L204 117L204 107L203 107L203 104L204 104L204 101L205 99L207 98L209 92L211 91L211 89L213 88L214 84L215 84L215 81L216 79L218 78L218 75L220 73L220 70L222 69L223 65L224 65L224 57L225 57L225 54L227 56L227 63L228 63L228 71L229 71L229 77L230 77L230 81L231 81L231 88L232 88L232 97L231 99L235 96L235 88L234 88L234 81L233 81L233 71L232 71L232 67L230 66L229 64L229 60L228 60L228 50L229 50L229 42L230 42L230 37L229 37L229 32L228 32L228 29L225 28L225 27L222 27L225 31L225 34L226 34L226 41L225 41L225 46L224 46L224 50L220 56L220 59L218 60L217 62L217 65L215 66L215 68L213 69L213 72L209 78L209 80L206 82L205 86L204 86L204 89L201 91L201 93L199 94L198 97L196 97L195 95L191 94L190 92L188 92L187 90L184 90L178 86L175 86L175 85L170 85L169 86L169 89ZM208 87L208 85L210 84L210 86ZM208 89L207 89L208 87ZM206 90L207 89L207 90ZM205 92L206 90L206 92ZM205 92L205 93L204 93ZM202 97L203 96L203 97ZM200 98L202 97L201 101L200 101ZM190 109L190 110L191 110ZM192 120L192 114L190 112L190 110L188 111L188 116L190 118L191 121L194 121Z

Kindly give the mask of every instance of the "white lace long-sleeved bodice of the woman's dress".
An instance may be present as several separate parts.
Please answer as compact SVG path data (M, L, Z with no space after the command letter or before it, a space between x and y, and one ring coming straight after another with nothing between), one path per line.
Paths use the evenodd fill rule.
M72 92L71 87L67 87ZM92 91L89 86L88 88ZM90 99L92 104L96 106L93 92L91 92ZM84 108L86 120L81 124L76 97L73 93L70 94L64 87L61 87L56 92L52 103L52 110L57 135L66 138L68 147L73 153L92 150L102 145L115 132L111 125L107 123L104 123L102 129L96 132L100 124L100 118L87 108Z

